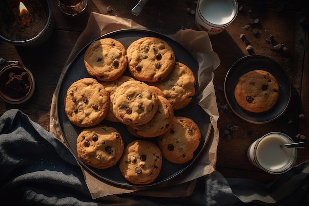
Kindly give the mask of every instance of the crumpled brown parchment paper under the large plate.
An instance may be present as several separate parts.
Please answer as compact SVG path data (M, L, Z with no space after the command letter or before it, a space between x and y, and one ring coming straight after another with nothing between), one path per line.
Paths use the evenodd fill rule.
M108 16L98 13L91 13L86 29L78 38L68 60L61 73L58 85L55 89L50 112L50 133L65 141L60 131L57 115L57 94L63 76L68 69L68 65L77 55L77 53L89 42L102 36L103 34L128 28L147 29L131 19L125 19L115 16ZM219 140L219 131L217 129L217 120L219 112L216 104L216 95L213 86L213 71L219 66L218 55L212 50L212 45L207 32L194 31L192 29L180 30L171 38L186 47L199 63L198 75L198 104L210 116L210 122L213 127L211 136L206 147L188 169L177 175L172 180L156 185L155 187L120 187L96 178L87 170L83 170L86 184L93 199L108 196L112 194L131 193L137 195L147 195L155 197L178 197L192 194L196 179L215 171L217 160L217 146ZM205 115L207 115L205 114Z

